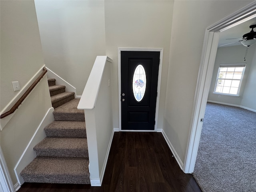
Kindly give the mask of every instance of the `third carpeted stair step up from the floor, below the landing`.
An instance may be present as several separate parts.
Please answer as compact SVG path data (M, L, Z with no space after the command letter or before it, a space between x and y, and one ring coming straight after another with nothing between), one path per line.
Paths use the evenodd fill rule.
M83 121L54 121L44 131L47 137L86 137Z

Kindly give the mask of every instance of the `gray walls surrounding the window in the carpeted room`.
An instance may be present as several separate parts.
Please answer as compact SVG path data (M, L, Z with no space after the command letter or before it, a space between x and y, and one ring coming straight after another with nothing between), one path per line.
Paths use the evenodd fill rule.
M240 45L240 46L229 46L229 47L218 48L217 54L216 54L216 60L214 64L214 71L212 74L212 82L211 82L210 91L208 95L209 101L221 102L221 103L232 104L237 106L243 106L242 103L244 103L248 108L251 108L248 102L249 101L253 102L256 96L255 92L253 94L253 90L255 90L255 86L253 85L253 79L254 81L256 81L255 74L254 74L255 71L253 71L253 69L255 68L255 56L254 56L255 50L256 50L256 45L250 46L246 56L246 61L244 61L244 54L246 52L245 46ZM240 88L240 95L228 96L223 94L214 94L213 92L214 92L216 77L217 77L218 68L220 64L221 63L244 63L244 62L246 62L246 68L244 71L244 78L242 80L242 84ZM218 96L220 96L220 98L218 98Z

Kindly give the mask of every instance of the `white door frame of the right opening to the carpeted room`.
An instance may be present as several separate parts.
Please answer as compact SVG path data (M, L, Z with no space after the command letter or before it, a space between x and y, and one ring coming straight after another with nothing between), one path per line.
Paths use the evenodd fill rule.
M218 48L219 33L254 17L256 17L255 1L206 28L193 106L194 114L192 114L192 121L190 124L191 132L183 166L185 173L192 173L196 163L196 156L203 124L200 122L200 119L204 118Z

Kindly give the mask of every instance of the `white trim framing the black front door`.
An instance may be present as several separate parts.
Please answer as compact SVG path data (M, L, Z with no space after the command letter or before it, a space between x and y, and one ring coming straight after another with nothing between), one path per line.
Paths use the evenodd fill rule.
M158 70L158 83L157 83L157 97L156 97L156 124L154 130L122 130L121 128L121 51L155 51L160 52L160 63ZM160 88L161 88L161 76L162 76L162 60L163 60L163 48L118 48L118 121L119 121L119 131L136 131L136 132L150 132L150 131L160 131L161 129L157 127L158 124L158 111L159 111L159 101L160 101Z

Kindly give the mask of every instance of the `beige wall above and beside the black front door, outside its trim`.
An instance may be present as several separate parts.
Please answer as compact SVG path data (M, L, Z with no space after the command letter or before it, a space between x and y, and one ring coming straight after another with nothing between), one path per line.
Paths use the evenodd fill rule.
M114 128L118 125L118 48L164 48L158 128L162 128L173 1L105 1L106 55L112 58ZM160 72L161 73L161 72ZM120 83L120 82L119 82Z

